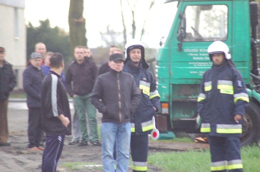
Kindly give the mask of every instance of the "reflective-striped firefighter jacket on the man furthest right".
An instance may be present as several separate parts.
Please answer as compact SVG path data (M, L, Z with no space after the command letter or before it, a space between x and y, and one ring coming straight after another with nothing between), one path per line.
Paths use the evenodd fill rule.
M204 75L198 97L202 118L200 132L211 136L241 136L242 125L234 120L244 116L249 98L240 72L229 66L213 65Z

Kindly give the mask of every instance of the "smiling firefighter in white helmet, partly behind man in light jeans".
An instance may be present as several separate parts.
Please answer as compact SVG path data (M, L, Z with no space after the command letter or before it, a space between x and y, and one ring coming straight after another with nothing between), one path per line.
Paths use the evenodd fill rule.
M148 134L153 129L152 117L159 108L160 95L156 82L144 58L144 46L140 40L131 39L125 45L123 72L134 76L141 94L141 102L131 114L131 154L133 171L147 171Z

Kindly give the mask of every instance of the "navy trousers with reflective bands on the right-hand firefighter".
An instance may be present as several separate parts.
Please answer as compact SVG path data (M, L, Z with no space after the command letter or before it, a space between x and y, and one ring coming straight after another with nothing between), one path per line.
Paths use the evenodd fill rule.
M211 171L243 172L240 137L209 136Z

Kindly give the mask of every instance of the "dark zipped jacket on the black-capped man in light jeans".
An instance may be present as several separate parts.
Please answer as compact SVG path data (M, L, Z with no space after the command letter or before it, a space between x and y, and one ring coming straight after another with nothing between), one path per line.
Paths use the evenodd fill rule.
M97 77L91 103L103 114L102 122L125 123L130 121L140 97L132 75L110 69Z

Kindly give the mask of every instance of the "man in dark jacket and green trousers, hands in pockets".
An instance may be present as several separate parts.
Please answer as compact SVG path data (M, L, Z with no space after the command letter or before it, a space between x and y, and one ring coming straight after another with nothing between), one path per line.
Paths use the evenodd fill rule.
M96 108L91 104L91 92L96 79L97 67L94 61L89 57L84 57L85 50L82 46L74 48L76 58L67 70L65 85L67 92L73 97L77 115L79 117L79 126L82 134L81 143L78 146L88 145L88 131L85 109L87 108L88 122L94 146L101 146L98 141ZM73 86L72 86L73 82ZM74 123L73 123L74 124Z

